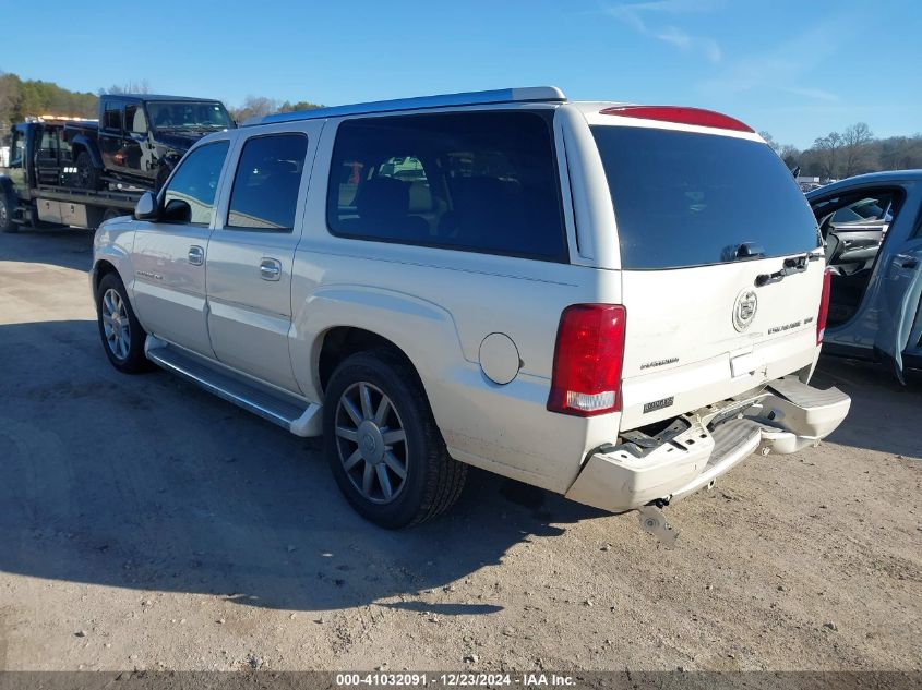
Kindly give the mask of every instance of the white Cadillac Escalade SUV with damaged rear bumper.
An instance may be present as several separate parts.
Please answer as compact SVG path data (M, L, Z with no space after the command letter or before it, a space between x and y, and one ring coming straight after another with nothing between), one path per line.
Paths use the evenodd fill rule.
M212 134L99 228L92 288L117 368L323 435L398 528L468 464L623 511L823 438L850 403L807 386L824 269L745 124L537 87Z

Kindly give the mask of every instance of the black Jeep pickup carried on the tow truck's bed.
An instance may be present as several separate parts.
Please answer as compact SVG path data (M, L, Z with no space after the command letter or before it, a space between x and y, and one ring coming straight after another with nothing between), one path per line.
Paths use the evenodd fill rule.
M110 181L157 191L197 140L237 124L219 100L178 96L104 95L99 123L68 124L75 186Z

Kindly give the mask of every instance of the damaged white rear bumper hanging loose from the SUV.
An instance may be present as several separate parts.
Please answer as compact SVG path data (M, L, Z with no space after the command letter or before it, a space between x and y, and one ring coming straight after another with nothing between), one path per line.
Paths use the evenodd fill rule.
M836 388L818 390L793 376L777 379L758 392L684 414L657 436L624 434L619 445L589 457L566 497L612 511L679 500L753 452L790 453L816 443L850 405Z

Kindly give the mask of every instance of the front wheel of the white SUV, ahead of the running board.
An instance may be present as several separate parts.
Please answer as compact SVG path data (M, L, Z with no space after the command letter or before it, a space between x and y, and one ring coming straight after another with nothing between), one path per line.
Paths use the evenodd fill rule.
M96 290L96 322L103 350L109 362L123 374L140 374L153 368L144 355L147 334L141 327L128 292L117 274L106 274Z

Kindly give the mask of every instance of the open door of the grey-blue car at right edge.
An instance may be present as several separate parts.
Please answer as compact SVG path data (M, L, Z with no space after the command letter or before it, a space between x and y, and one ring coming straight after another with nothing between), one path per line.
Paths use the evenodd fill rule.
M887 262L875 346L889 355L900 383L903 352L918 351L922 338L922 239L882 257Z

